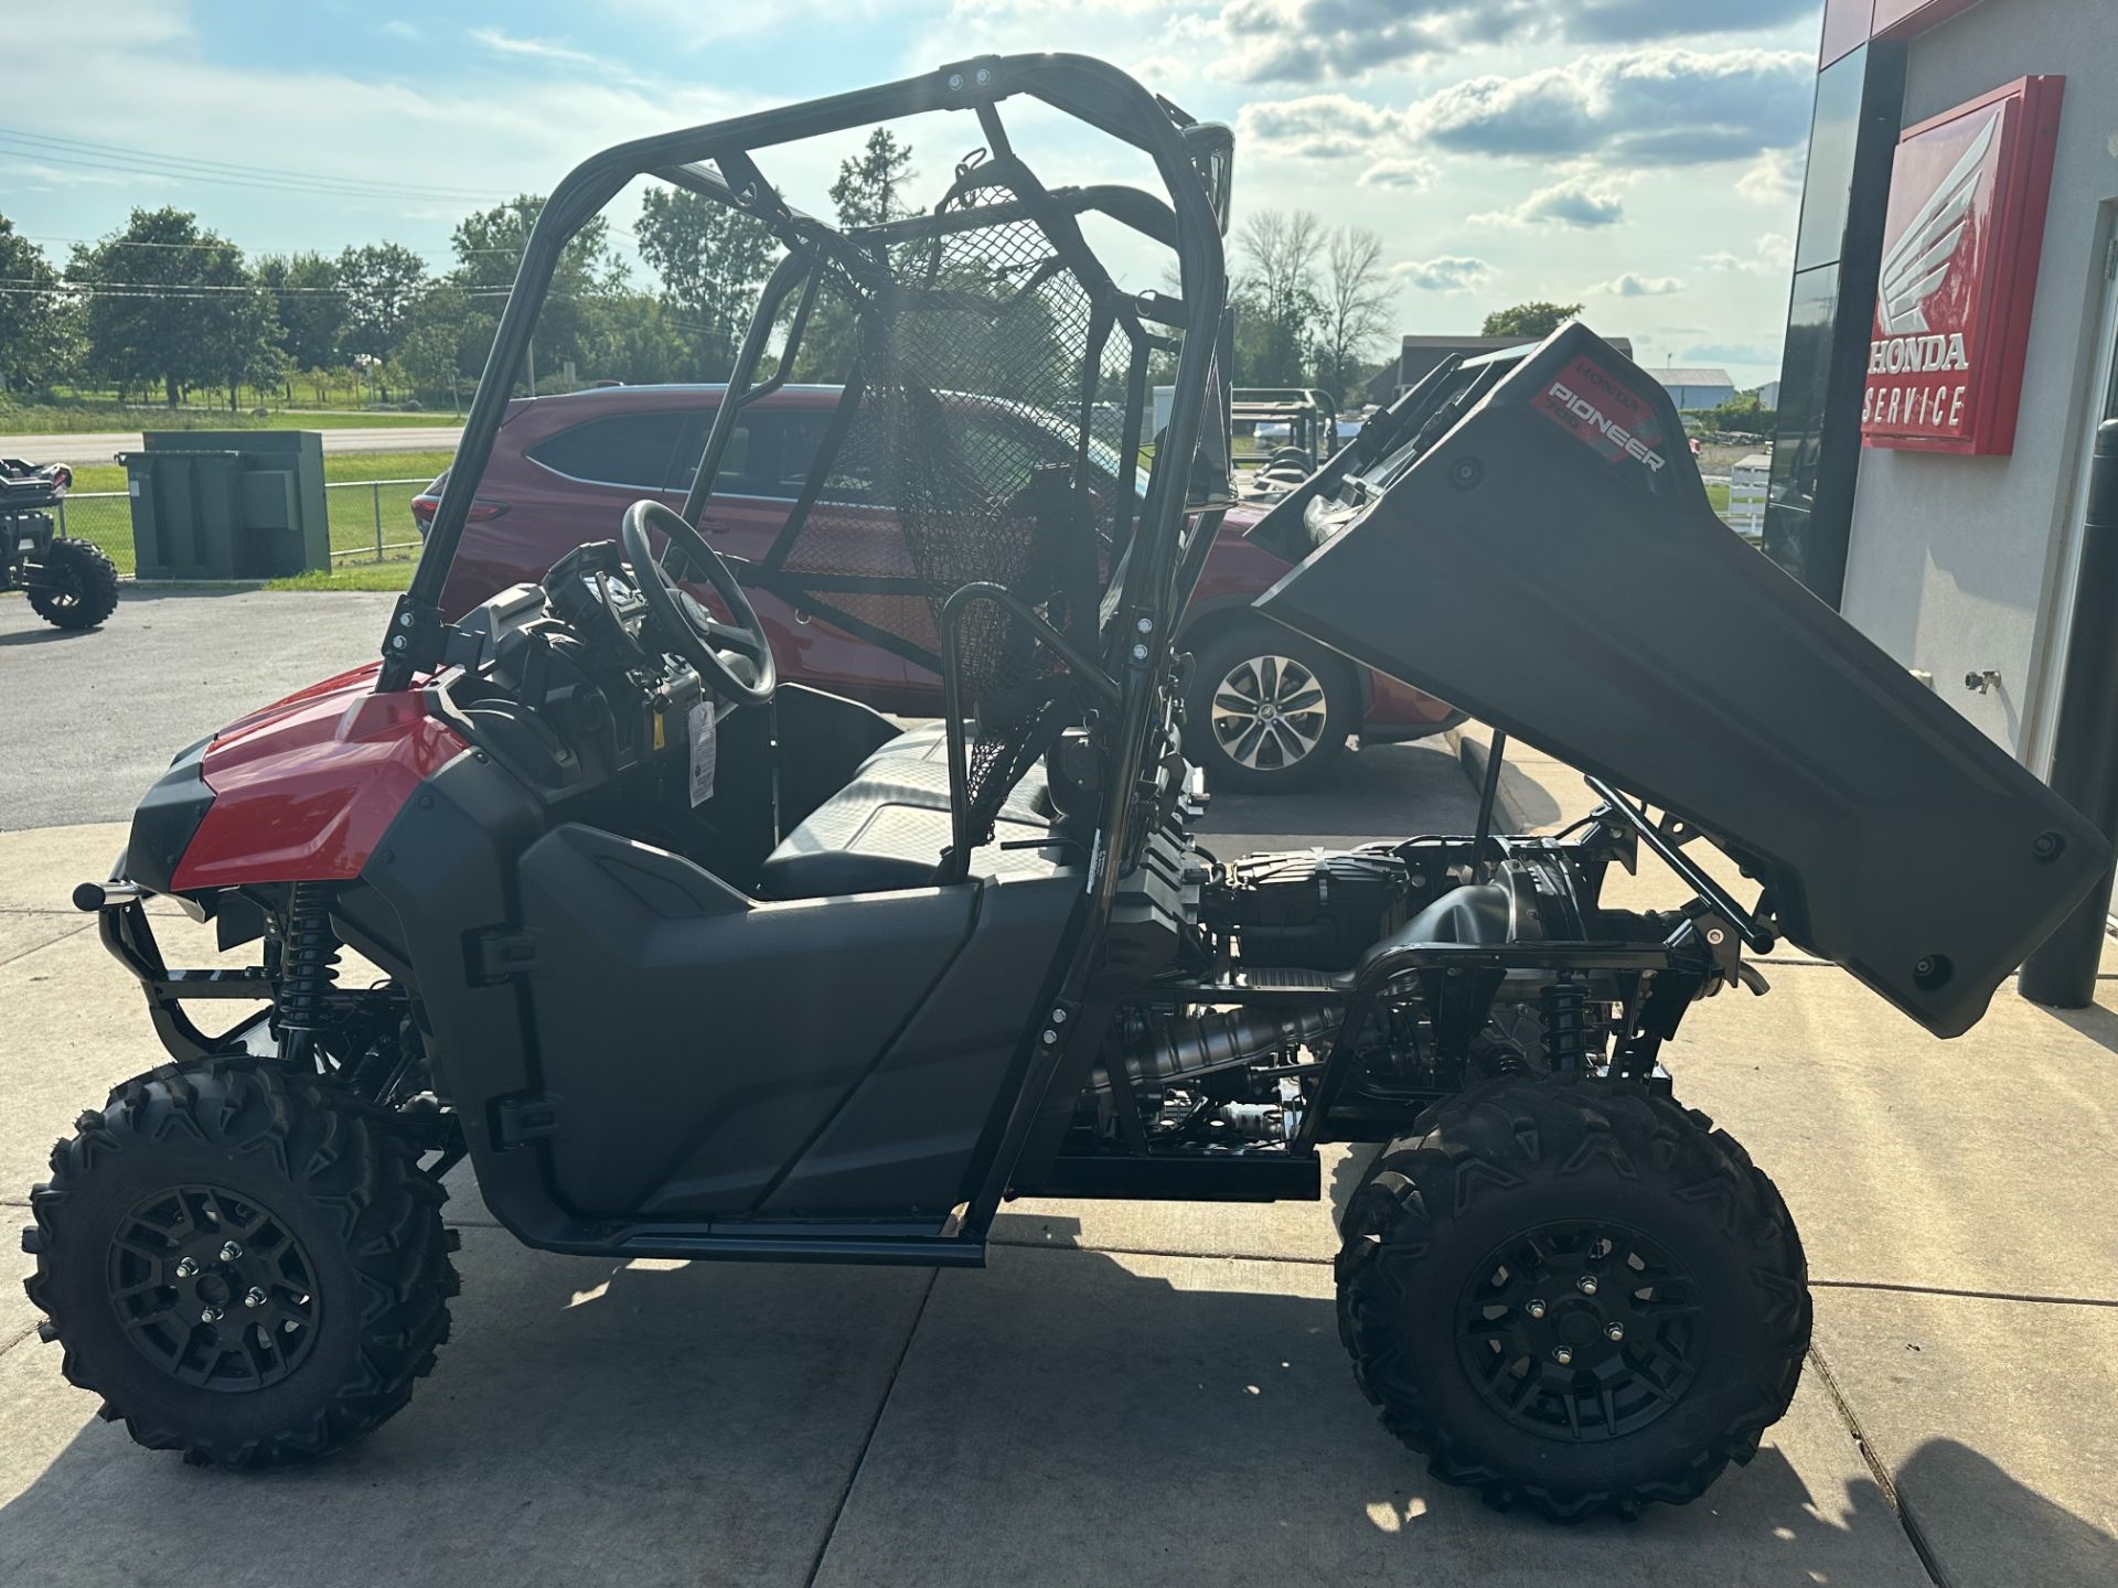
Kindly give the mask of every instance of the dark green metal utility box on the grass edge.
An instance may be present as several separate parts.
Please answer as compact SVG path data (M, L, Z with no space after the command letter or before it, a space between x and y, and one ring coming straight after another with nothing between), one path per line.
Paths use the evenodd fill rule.
M330 567L324 436L150 430L119 453L138 578L284 578Z

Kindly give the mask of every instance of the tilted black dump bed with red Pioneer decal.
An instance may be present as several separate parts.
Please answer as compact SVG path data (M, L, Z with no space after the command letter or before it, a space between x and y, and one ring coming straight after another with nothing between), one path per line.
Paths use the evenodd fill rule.
M1258 606L1667 807L1794 942L1968 1031L2103 836L1726 529L1667 392L1584 326L1442 423Z

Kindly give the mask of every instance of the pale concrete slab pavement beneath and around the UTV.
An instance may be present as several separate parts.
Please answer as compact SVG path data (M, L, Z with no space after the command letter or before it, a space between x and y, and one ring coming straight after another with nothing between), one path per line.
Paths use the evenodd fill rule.
M1362 752L1343 796L1214 817L1277 845L1461 826L1449 764ZM1392 788L1436 805L1385 826ZM64 910L121 832L0 834L17 1217L72 1114L159 1059ZM2059 1018L2004 989L1940 1044L1836 970L1773 978L1701 1006L1669 1061L1785 1192L1817 1351L1699 1505L1557 1531L1434 1484L1351 1387L1317 1207L1017 1203L989 1270L938 1277L614 1266L519 1249L457 1175L455 1336L309 1472L136 1450L0 1289L0 1582L2118 1582L2118 1001Z

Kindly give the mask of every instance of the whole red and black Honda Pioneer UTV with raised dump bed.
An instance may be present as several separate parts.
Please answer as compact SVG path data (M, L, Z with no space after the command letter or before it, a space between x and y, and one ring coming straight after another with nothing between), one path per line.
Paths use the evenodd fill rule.
M983 144L923 214L839 231L760 169L915 112ZM1040 123L1154 191L1048 186L1015 142ZM76 896L169 1048L32 1192L30 1296L106 1416L237 1467L379 1425L447 1338L466 1156L551 1251L979 1266L1006 1196L1315 1198L1324 1143L1377 1141L1341 1323L1440 1478L1576 1518L1749 1459L1800 1374L1802 1249L1671 1101L1663 1044L1692 999L1760 989L1743 953L1777 938L1963 1031L2105 845L1728 534L1669 398L1567 326L1440 371L1290 495L1258 534L1298 567L1262 606L1576 760L1603 809L1497 836L1487 798L1464 836L1205 853L1169 642L1228 504L1228 169L1224 129L1029 55L557 186L381 665L182 752ZM735 396L682 512L638 504L443 622L559 252L640 176L782 250ZM1180 294L1120 288L1139 256ZM1144 495L985 451L945 400L1061 415L1082 451L1123 404L1133 468L1167 356ZM699 515L743 404L794 377L843 396L786 529L729 567ZM841 536L849 504L898 538ZM936 667L947 720L777 684L752 584ZM1639 845L1690 898L1601 902ZM148 896L254 968L169 968ZM337 982L347 951L381 980ZM212 999L263 1008L201 1027Z

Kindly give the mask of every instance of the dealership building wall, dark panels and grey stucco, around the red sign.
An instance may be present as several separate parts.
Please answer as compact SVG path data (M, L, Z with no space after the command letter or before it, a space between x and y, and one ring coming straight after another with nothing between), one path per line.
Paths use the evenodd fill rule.
M2010 455L1862 447L1896 133L2063 76ZM1834 0L1790 305L1766 548L2035 771L2074 601L2086 449L2112 409L2118 4ZM2118 635L2114 635L2118 644ZM1995 673L1985 690L1966 675Z

